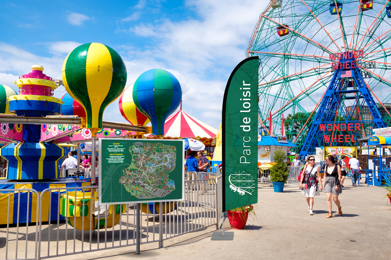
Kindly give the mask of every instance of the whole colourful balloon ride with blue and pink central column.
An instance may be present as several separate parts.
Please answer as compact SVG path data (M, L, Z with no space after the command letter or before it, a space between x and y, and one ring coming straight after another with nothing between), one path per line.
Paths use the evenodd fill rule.
M14 212L19 208L20 212L10 215L9 220L1 218L0 225L7 224L7 221L9 224L17 223L18 218L19 223L38 222L35 214L32 214L32 208L39 203L39 198L34 192L18 192L13 189L34 189L41 194L49 187L75 189L66 194L58 190L60 196L58 192L53 192L51 206L42 208L43 222L49 219L57 221L59 207L59 220L66 220L72 226L76 223L75 228L80 230L82 219L89 217L86 212L90 210L93 212L93 228L98 228L98 225L104 228L106 218L106 227L117 224L119 213L126 211L125 204L110 205L103 211L102 208L89 209L90 205L97 202L98 193L84 192L81 196L77 187L95 185L95 167L91 167L91 178L61 178L59 166L65 152L58 143L79 145L92 140L92 144L95 144L98 138L143 137L149 131L145 127L148 120L152 122L153 134L162 135L164 124L161 122L176 110L182 95L177 79L164 70L145 72L136 80L134 88L128 88L131 91L123 92L127 80L125 64L118 53L99 43L83 44L75 48L65 59L62 80L67 91L62 99L53 97L53 90L59 85L53 78L43 74L42 66L34 65L31 73L22 75L15 81L20 89L19 94L1 85L3 89L0 88L0 97L4 96L5 100L0 102L4 113L0 115L4 122L1 124L4 130L0 133L0 141L7 144L0 149L0 156L7 160L7 167L5 178L0 180L0 205L6 209L10 201L10 211ZM120 102L120 111L131 124L103 122L105 108L119 96L120 101L125 101ZM166 107L153 104L154 100L163 98L166 100L163 104ZM15 114L6 115L12 112ZM132 114L136 116L132 117ZM142 123L139 119L141 114L144 116ZM95 149L92 146L91 165L95 165ZM43 196L43 200L47 199ZM89 200L93 203L86 203ZM27 204L30 206L26 206ZM159 212L156 206L154 208ZM84 225L84 230L87 229L89 226Z

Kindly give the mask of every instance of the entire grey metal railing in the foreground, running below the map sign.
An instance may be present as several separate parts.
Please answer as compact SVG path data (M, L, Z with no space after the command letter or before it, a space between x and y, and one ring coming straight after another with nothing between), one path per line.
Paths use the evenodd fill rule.
M5 259L44 259L135 245L138 217L140 243L158 242L159 247L166 239L217 225L217 183L213 178L185 181L184 201L142 203L139 215L137 204L100 205L96 186L47 188L41 194L32 189L0 191L1 199L8 200L3 217L17 218L15 227L0 226L5 244L0 255ZM30 194L27 201L13 198L22 192ZM34 230L29 221L25 229L18 224L20 207L26 202L27 212L36 214Z

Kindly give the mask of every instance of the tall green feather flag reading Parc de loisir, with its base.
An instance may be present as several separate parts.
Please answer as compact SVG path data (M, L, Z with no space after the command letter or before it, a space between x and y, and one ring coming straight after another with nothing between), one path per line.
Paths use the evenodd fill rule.
M225 211L258 203L258 73L258 56L244 59L232 72L224 92L223 221ZM215 232L212 240L233 240L233 232Z

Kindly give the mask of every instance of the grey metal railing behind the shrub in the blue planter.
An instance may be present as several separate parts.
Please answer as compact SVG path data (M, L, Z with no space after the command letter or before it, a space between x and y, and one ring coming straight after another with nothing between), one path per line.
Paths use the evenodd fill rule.
M301 167L299 166L289 166L289 176L288 181L284 187L298 187L300 186L299 175L301 172ZM270 181L270 170L269 168L259 168L258 173L258 188L273 188L273 183Z

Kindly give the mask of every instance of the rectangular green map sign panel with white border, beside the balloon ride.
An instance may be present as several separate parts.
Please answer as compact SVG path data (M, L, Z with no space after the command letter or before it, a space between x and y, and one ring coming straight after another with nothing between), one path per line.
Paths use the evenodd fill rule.
M102 204L184 198L182 140L99 139Z

